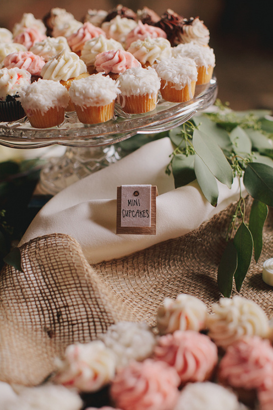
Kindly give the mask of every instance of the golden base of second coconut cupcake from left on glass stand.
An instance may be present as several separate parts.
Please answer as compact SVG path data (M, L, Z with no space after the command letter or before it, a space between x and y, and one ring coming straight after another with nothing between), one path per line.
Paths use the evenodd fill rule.
M78 119L83 124L99 124L109 121L114 116L115 101L105 106L81 107L75 105Z

